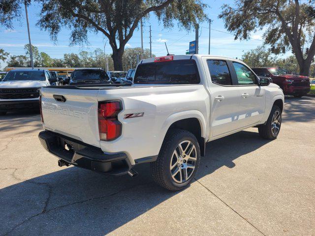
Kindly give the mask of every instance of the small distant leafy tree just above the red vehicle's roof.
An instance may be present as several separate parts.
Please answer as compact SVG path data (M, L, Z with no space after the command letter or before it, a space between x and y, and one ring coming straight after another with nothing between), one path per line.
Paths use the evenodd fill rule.
M264 46L246 52L242 56L242 60L250 67L274 66L276 63L276 57Z

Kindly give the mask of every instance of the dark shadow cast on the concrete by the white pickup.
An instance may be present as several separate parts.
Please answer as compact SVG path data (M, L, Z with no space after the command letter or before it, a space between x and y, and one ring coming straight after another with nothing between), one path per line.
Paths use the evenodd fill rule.
M251 131L209 143L196 179L222 166L233 168L235 159L267 143ZM149 164L135 170L139 176L131 178L69 167L5 187L0 190L0 234L105 235L180 194L155 184ZM11 170L12 178L19 179L19 171Z

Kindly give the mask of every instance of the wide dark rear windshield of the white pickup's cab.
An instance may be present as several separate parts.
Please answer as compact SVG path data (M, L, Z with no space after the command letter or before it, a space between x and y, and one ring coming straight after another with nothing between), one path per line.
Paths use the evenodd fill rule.
M194 60L172 60L140 64L134 77L135 84L199 84Z

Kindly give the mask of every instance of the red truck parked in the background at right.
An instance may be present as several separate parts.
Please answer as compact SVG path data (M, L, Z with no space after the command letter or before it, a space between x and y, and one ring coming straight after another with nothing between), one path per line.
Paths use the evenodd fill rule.
M307 76L292 75L286 70L277 67L260 67L252 68L252 70L258 76L272 78L272 83L279 85L284 90L285 95L302 97L311 89L310 78Z

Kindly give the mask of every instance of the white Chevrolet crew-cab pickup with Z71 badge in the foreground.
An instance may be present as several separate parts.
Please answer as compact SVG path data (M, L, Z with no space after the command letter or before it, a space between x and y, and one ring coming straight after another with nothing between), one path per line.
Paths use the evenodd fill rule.
M42 88L39 139L59 166L135 176L151 162L155 181L176 191L207 142L253 126L277 138L283 107L282 89L240 60L165 56L142 60L133 85Z

